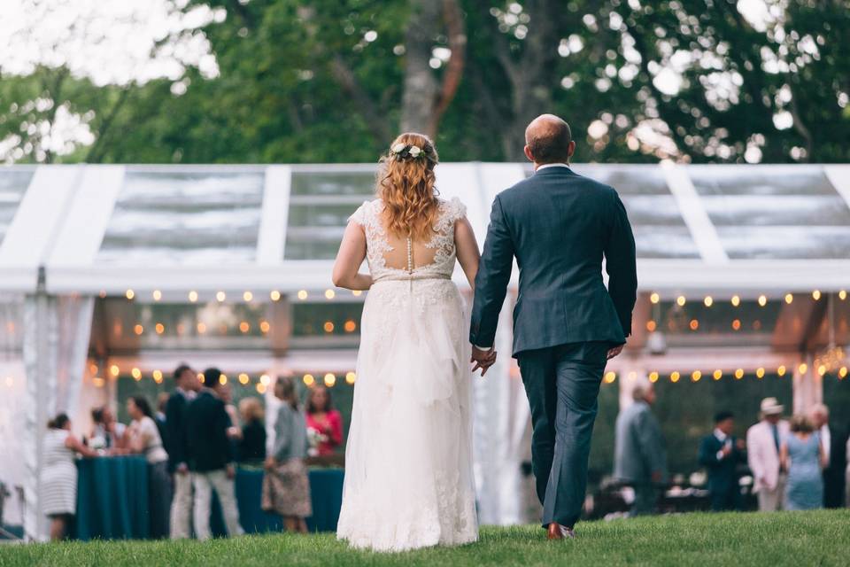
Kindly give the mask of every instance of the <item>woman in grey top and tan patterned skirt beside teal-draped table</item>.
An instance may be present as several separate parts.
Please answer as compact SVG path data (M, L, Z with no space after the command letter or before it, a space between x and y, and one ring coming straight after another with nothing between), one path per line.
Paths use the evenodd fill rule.
M307 431L290 377L278 377L274 397L282 401L274 422L274 448L266 459L262 508L280 514L287 532L306 533L305 518L313 515L310 480L304 459Z

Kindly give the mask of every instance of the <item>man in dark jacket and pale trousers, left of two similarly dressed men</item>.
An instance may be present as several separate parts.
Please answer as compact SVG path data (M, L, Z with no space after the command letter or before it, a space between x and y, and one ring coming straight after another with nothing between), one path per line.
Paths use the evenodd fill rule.
M192 478L189 474L187 438L189 424L186 408L195 398L201 384L197 374L187 364L174 370L177 387L166 403L166 450L168 471L172 474L174 498L171 502L171 538L179 540L191 535Z

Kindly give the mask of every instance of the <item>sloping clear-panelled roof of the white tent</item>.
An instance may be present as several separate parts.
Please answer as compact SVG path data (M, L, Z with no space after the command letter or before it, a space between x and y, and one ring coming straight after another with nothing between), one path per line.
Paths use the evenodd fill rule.
M839 289L846 166L576 165L620 191L646 291ZM521 164L444 164L437 186L479 240ZM0 170L0 290L324 288L375 166L42 166Z

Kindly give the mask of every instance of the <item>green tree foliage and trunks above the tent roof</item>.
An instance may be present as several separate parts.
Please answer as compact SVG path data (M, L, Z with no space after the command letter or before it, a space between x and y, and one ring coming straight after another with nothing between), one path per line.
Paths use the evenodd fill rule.
M0 65L0 157L374 161L410 128L446 160L518 160L552 112L582 161L850 159L850 2L743 4L181 0L221 16L199 30L215 76L99 85Z

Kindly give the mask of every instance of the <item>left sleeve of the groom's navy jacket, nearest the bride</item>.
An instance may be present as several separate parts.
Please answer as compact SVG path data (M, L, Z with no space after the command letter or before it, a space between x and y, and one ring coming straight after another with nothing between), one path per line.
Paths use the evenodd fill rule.
M493 201L484 252L475 276L475 299L469 330L469 342L473 345L493 346L498 313L502 310L513 268L514 241L497 196Z

